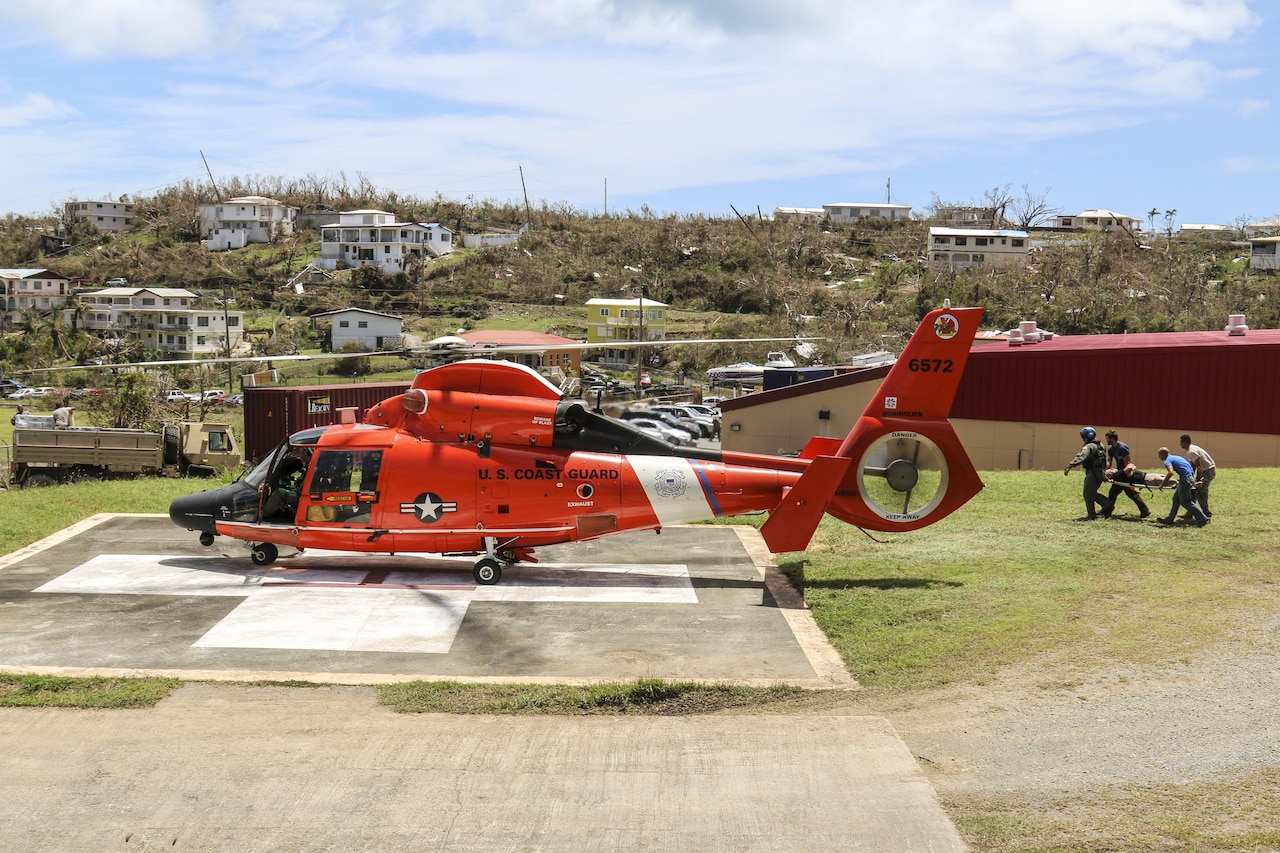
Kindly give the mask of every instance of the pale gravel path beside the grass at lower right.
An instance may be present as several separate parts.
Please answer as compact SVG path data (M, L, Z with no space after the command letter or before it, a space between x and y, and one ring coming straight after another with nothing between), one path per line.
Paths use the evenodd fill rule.
M884 713L940 794L1034 799L1245 774L1280 763L1280 621L1180 663L1028 667Z

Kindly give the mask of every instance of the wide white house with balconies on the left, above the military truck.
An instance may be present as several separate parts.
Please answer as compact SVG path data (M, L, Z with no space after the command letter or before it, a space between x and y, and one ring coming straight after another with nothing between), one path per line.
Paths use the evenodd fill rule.
M244 313L202 306L180 287L108 287L81 293L83 328L123 334L143 346L186 356L234 352L244 338Z

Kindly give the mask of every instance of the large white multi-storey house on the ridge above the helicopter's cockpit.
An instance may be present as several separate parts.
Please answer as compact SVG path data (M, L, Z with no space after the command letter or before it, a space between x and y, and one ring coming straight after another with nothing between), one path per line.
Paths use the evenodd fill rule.
M439 223L396 222L385 210L344 210L320 227L317 266L378 266L399 273L453 251L453 232Z

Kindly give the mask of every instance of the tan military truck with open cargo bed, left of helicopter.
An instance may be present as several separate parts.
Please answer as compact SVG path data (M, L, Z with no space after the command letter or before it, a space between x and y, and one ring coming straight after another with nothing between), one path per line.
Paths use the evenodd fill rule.
M184 420L159 432L54 429L49 415L18 415L9 482L26 488L138 475L209 476L241 462L239 444L227 424Z

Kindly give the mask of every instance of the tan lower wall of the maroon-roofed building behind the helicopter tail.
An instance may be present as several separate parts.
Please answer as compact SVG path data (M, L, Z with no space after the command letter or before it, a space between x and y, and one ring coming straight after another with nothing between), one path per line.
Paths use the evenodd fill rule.
M721 444L728 451L786 453L799 451L812 435L844 437L867 409L879 382L788 396L765 401L723 415ZM819 412L828 411L829 419ZM978 470L1061 470L1080 450L1084 424L1030 424L996 420L954 419L960 442ZM1156 450L1161 446L1179 452L1178 437L1184 432L1128 428L1120 424L1089 424L1098 437L1108 429L1129 444L1133 460L1143 470L1160 470ZM1247 433L1190 433L1220 467L1280 467L1280 435Z

